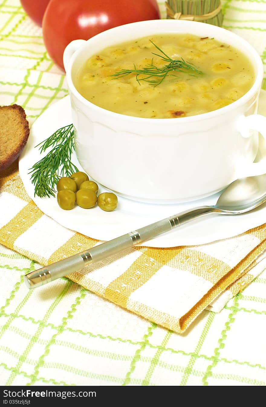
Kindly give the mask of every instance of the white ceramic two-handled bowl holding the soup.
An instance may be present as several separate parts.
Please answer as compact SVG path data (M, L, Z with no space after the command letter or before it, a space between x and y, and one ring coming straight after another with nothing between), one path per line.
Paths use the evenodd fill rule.
M214 37L238 48L255 70L252 88L213 112L176 119L125 116L93 105L74 83L82 64L103 48L160 33ZM112 28L87 42L71 42L64 53L76 153L84 170L116 193L141 201L189 201L223 189L239 177L266 172L253 163L266 118L257 115L263 79L254 48L223 28L191 21L151 20Z

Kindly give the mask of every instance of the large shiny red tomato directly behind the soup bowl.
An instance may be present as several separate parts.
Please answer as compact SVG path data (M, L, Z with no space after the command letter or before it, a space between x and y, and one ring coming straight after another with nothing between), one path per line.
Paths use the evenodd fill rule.
M64 49L73 39L89 39L112 27L159 18L156 0L50 0L43 16L43 40L52 60L63 68Z

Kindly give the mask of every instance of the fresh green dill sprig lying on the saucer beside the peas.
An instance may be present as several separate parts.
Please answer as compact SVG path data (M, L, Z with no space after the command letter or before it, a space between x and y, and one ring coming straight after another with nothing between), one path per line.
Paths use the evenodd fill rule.
M75 150L73 125L61 127L35 147L39 147L40 153L49 147L52 149L29 168L30 179L35 186L34 196L54 197L58 179L69 177L78 171L76 165L71 162L71 153ZM59 170L59 168L61 169Z

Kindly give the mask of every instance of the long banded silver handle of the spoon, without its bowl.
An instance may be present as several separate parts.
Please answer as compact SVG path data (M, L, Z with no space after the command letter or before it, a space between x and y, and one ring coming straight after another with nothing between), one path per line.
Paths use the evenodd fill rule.
M151 223L133 232L124 234L108 242L94 246L84 252L74 254L56 263L42 267L39 270L31 271L24 276L24 281L28 288L36 288L48 282L54 281L59 277L74 273L85 266L104 260L106 257L117 254L125 249L133 247L138 243L153 239L160 234L169 232L177 226L182 225L203 214L218 211L212 206L201 206L186 212L175 214L161 221Z

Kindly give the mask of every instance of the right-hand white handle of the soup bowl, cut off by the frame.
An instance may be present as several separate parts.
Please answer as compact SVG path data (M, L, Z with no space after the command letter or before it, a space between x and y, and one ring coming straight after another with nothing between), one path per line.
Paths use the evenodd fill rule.
M261 114L251 114L244 116L240 120L239 131L242 137L250 137L250 130L256 130L266 139L266 117ZM253 175L266 174L266 157L260 162L247 162L243 160L240 163L236 178L252 177Z

